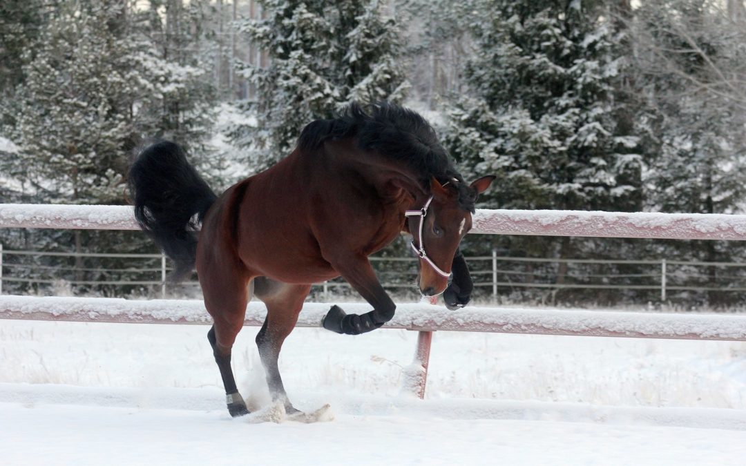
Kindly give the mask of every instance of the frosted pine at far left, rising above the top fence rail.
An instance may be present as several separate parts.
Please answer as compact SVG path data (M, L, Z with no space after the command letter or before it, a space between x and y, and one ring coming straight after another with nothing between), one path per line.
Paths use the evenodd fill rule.
M41 32L24 67L13 128L22 147L18 168L47 193L46 201L119 197L128 127L113 95L113 83L124 80L106 27L115 13L69 2Z

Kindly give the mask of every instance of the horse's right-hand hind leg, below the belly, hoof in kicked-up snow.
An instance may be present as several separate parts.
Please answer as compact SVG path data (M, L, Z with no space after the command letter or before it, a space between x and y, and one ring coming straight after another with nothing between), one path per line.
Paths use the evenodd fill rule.
M290 403L278 369L283 341L295 328L310 285L288 285L263 277L255 280L255 294L267 306L267 318L257 333L257 347L273 401L282 401L289 414L298 412Z

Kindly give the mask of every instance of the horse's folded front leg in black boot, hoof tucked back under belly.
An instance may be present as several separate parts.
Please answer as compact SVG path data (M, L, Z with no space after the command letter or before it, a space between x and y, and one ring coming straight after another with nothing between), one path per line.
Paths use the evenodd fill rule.
M340 261L333 266L373 306L373 310L363 315L345 314L339 306L332 306L322 320L325 329L359 335L377 329L394 317L396 305L380 285L367 257Z

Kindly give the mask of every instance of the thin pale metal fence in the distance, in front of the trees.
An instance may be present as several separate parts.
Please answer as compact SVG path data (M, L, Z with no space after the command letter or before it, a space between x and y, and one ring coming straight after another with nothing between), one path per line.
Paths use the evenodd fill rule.
M135 259L135 260L150 260L154 261L157 259L160 262L160 266L137 266L137 267L125 267L125 268L104 268L104 267L83 267L76 268L75 266L69 267L57 267L48 265L36 265L36 264L19 264L19 263L8 263L3 261L4 257L8 256L56 256L56 257L93 257L93 258L116 258L116 259ZM370 258L374 263L374 268L377 264L386 264L394 262L407 262L416 265L415 257L378 257L372 256ZM497 251L492 251L492 256L471 256L467 257L467 261L472 268L471 274L474 278L474 286L483 289L492 290L492 298L497 299L498 292L501 289L606 289L606 290L659 290L660 299L665 300L668 292L671 291L715 291L715 292L746 292L745 286L694 286L694 285L677 285L671 284L669 280L672 275L676 275L678 278L686 277L700 277L707 278L706 274L698 274L692 272L681 272L677 271L673 274L670 271L670 266L674 265L685 265L693 268L700 267L728 267L728 268L745 268L746 262L698 262L698 261L681 261L681 260L668 260L668 259L642 259L642 260L631 260L631 259L547 259L537 257L514 257L514 256L498 256ZM584 265L640 265L640 266L653 266L651 271L645 273L636 274L598 274L598 273L583 273L580 275L568 274L565 276L566 279L570 280L611 280L611 279L623 279L623 278L647 278L651 280L648 284L631 284L631 283L555 283L551 280L556 280L557 275L548 274L547 271L519 271L515 269L505 268L504 265L507 262L531 262L540 265L547 264L584 264ZM485 263L487 266L485 267ZM41 271L49 271L50 274L54 272L73 272L73 271L90 271L90 272L101 272L110 273L116 272L117 274L157 274L158 279L153 280L67 280L63 277L13 277L11 274L5 274L3 269L9 271L18 271L19 269L36 269ZM2 292L3 282L6 283L37 283L43 285L51 285L54 283L68 283L71 286L154 286L160 287L160 294L162 297L166 295L166 274L171 269L168 267L166 257L163 254L120 254L120 253L66 253L66 252L45 252L45 251L13 251L3 250L0 245L0 293ZM379 274L383 278L383 286L388 289L407 289L411 288L412 285L407 282L408 278L406 274L401 274L395 271L379 271ZM391 280L389 278L392 274L398 274L401 280ZM511 277L517 277L516 280L510 280ZM518 279L536 278L547 281L527 281ZM743 277L739 276L720 276L721 279L742 279L746 281L746 274ZM654 280L654 281L653 281ZM196 281L186 281L183 283L186 286L198 286ZM319 283L315 285L317 291L322 291L325 294L330 289L345 289L349 288L349 284L341 281L330 281L325 283Z

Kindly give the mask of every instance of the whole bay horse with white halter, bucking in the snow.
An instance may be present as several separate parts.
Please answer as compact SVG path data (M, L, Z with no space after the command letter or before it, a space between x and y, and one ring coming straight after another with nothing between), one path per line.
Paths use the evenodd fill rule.
M395 104L349 104L304 127L287 157L217 196L183 148L157 141L140 151L128 188L140 227L175 263L169 280L196 268L213 317L213 348L232 417L248 414L231 370L231 349L251 297L266 304L256 343L272 400L287 397L278 356L313 283L341 276L373 307L332 306L321 323L358 335L390 321L396 306L368 256L410 233L419 290L465 306L473 283L459 249L477 196L495 176L466 183L422 116ZM448 277L453 272L451 283Z

